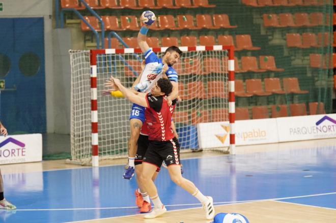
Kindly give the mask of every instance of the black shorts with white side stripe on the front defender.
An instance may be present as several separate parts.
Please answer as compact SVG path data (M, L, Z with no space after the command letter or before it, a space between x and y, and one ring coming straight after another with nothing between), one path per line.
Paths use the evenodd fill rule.
M149 141L143 161L160 167L164 161L166 166L180 165L180 144L174 138L169 141Z

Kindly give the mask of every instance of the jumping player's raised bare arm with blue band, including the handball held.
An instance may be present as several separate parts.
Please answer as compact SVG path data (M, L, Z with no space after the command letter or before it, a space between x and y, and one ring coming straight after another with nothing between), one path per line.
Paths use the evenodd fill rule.
M141 20L143 21L144 26L141 27L139 33L137 34L137 44L139 45L143 53L145 53L149 49L146 37L148 29L150 25L154 23L155 19L155 14L151 11L145 11L141 15Z

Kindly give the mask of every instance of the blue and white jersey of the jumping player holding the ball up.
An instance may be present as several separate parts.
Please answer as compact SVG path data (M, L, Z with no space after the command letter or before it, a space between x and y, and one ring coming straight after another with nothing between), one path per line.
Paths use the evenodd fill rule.
M157 80L162 78L162 59L158 58L151 49L145 52L145 63L146 66L140 81L134 86L134 89L140 92L149 92ZM165 74L170 81L177 82L178 76L174 68L169 66Z

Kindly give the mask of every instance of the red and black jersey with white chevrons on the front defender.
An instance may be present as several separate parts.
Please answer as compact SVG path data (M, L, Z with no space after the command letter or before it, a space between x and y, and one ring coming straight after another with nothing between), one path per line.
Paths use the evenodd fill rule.
M172 127L173 110L168 106L165 96L154 97L151 93L146 95L147 108L145 111L148 139L167 141L174 138Z

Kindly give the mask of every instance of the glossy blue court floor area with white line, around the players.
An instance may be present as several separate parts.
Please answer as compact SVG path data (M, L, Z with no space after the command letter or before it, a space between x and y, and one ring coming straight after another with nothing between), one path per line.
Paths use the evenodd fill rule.
M182 160L184 174L215 205L272 199L336 209L336 145ZM0 167L1 168L1 167ZM4 174L16 211L0 222L69 222L138 214L135 179L124 166ZM156 184L168 210L200 207L162 169Z

